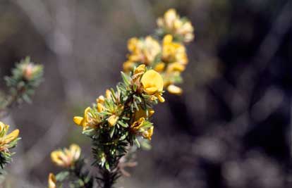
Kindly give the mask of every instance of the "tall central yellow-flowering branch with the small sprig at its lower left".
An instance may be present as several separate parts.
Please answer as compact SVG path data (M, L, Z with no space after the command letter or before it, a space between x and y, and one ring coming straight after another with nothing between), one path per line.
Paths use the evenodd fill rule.
M174 84L182 81L181 72L188 63L183 42L193 39L193 26L174 9L157 23L161 41L151 36L130 39L128 60L121 72L123 82L107 89L95 104L85 108L82 116L73 118L92 141L92 165L99 173L88 173L84 160L79 158L79 146L71 145L70 149L51 153L52 161L65 170L56 176L49 174L49 188L66 182L74 188L91 188L94 180L99 187L111 188L118 177L128 174L123 167L135 165L130 165L130 156L152 139L153 108L165 101L164 88L172 94L182 92Z

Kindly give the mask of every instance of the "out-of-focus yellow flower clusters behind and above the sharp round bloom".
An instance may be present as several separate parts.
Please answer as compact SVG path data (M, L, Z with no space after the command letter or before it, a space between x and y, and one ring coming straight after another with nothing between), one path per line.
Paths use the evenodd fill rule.
M162 39L133 37L128 40L128 60L123 70L129 73L135 66L145 64L160 73L164 88L171 94L181 94L182 89L175 84L182 82L181 72L188 64L183 42L193 40L193 26L186 18L180 18L174 9L157 20L157 34Z

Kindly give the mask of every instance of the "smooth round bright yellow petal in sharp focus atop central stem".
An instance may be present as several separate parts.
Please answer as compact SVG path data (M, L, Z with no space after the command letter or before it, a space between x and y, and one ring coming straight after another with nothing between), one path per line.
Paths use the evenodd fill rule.
M144 87L144 91L147 94L157 94L163 91L163 79L155 70L148 70L142 75L140 81Z

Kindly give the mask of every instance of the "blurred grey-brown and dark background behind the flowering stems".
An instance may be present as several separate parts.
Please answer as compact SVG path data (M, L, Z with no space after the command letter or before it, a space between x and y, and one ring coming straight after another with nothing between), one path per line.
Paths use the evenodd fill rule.
M2 120L22 137L11 187L46 187L56 148L90 156L73 115L121 80L127 40L152 34L169 8L195 27L184 92L157 106L152 150L118 187L289 187L291 1L0 0L0 76L30 56L45 77L33 104Z

